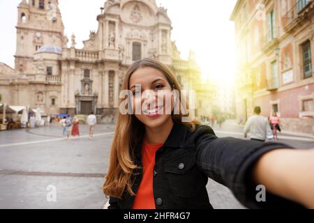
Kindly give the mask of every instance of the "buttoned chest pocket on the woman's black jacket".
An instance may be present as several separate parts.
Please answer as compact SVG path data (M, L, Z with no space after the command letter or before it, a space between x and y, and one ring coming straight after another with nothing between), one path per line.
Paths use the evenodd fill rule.
M165 157L165 176L174 195L195 197L202 186L202 174L196 165L195 156L193 149L180 149Z

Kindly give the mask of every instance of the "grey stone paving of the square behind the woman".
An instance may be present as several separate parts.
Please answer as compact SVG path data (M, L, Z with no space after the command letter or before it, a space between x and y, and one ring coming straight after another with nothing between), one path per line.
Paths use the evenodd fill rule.
M241 137L235 125L215 130L219 137ZM80 125L80 138L70 140L61 137L59 125L0 132L0 208L103 208L107 199L101 187L113 132L114 125L97 125L92 140L87 125ZM282 141L314 148L306 138ZM57 201L47 201L51 188ZM207 190L214 208L244 208L213 180Z

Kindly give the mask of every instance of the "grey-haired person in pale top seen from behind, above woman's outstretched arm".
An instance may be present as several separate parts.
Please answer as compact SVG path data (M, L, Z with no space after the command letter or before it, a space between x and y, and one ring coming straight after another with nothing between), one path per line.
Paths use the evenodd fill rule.
M254 108L255 115L248 118L246 126L244 127L244 137L247 137L248 132L251 132L251 140L265 141L267 137L271 136L271 128L266 117L261 116L260 107Z

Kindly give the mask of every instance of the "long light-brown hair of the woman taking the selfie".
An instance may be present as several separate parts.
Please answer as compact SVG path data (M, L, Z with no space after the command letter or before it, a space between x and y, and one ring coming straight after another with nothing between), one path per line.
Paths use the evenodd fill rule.
M135 61L128 71L126 72L126 77L124 78L124 83L121 90L129 90L130 76L139 68L155 68L165 75L167 82L172 86L172 90L179 91L179 101L185 100L181 96L181 89L174 77L174 74L170 68L160 63L156 59L142 59L140 61ZM120 99L120 103L126 98ZM187 105L187 102L186 102ZM195 130L195 124L197 121L190 123L183 123L182 117L184 115L173 114L172 120L175 123L181 123L187 125L191 131ZM117 125L114 133L114 139L112 141L111 151L110 151L110 163L109 170L105 176L105 184L103 185L103 192L105 195L110 197L115 197L121 199L125 190L132 196L135 193L132 190L132 175L133 171L138 167L134 163L134 151L137 144L144 136L145 128L144 124L141 123L133 114L118 114Z

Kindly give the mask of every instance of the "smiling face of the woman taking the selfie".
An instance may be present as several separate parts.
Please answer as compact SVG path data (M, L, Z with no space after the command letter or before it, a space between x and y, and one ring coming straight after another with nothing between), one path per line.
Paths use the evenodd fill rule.
M129 86L133 112L145 126L156 128L172 121L172 87L162 72L151 67L139 68L130 76Z

